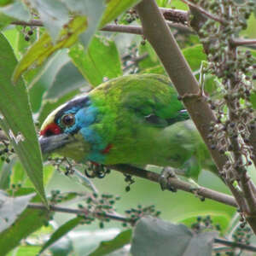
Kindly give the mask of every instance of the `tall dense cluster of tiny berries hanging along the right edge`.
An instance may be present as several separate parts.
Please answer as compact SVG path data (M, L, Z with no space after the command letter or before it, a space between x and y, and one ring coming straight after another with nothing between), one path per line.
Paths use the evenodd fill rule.
M252 0L193 1L212 15L201 25L198 34L208 56L208 73L216 77L218 100L208 100L217 120L211 124L208 139L212 149L226 154L228 161L221 175L233 182L239 180L254 159L250 135L256 127L251 103L256 65L249 50L237 49L235 36L245 29L254 9ZM243 160L244 159L244 160ZM236 170L236 172L233 172Z

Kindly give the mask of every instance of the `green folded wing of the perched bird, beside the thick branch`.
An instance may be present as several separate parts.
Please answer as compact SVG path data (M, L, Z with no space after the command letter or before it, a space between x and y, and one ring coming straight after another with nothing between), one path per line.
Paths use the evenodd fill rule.
M177 91L165 76L148 74L133 79L124 90L123 106L145 123L166 127L189 119L182 102L177 99Z

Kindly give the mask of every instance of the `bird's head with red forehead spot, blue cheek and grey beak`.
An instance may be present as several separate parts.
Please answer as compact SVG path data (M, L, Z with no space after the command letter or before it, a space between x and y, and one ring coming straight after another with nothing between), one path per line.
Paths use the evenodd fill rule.
M86 115L89 106L89 98L80 96L49 113L39 137L44 155L57 153L77 161L84 159L90 150L90 144L84 142L80 130L93 120L93 113Z

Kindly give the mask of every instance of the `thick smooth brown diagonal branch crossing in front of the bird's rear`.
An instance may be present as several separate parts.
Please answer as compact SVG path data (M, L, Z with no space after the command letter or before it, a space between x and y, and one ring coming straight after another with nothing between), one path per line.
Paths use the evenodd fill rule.
M142 20L144 36L152 44L160 61L166 68L166 73L168 73L178 94L182 97L185 107L188 109L198 131L201 133L201 137L212 154L213 160L218 166L218 170L222 170L227 158L219 154L217 150L213 150L210 141L207 139L210 126L217 119L205 97L202 96L199 84L178 48L172 33L166 26L157 4L154 3L154 0L143 0L137 5L137 11Z

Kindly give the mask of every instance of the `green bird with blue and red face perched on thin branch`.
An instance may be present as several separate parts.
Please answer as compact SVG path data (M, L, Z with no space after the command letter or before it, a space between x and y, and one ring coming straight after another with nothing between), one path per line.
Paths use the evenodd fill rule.
M157 74L112 79L67 102L45 119L39 142L43 154L78 162L172 166L195 178L215 168L176 90Z

